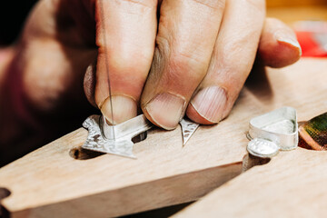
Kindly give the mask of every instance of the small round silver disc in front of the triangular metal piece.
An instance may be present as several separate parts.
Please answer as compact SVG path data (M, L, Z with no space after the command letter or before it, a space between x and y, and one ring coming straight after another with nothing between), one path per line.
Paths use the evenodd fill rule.
M249 142L247 150L253 156L266 158L278 154L280 146L266 139L255 138Z

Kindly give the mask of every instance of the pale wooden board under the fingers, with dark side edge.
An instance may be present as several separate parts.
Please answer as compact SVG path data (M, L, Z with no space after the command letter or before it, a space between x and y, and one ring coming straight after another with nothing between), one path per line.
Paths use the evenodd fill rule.
M201 126L185 147L180 128L150 131L134 146L137 160L75 160L87 134L78 129L1 168L0 187L11 193L1 204L11 217L109 217L196 200L242 172L250 118L283 105L300 120L325 111L326 68L303 59L253 74L223 122Z

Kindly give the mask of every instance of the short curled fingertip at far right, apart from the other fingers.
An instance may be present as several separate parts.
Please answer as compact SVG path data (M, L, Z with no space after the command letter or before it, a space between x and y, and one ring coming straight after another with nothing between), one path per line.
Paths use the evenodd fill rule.
M259 55L263 63L272 67L283 67L298 61L302 51L292 29L274 18L267 18L259 44Z

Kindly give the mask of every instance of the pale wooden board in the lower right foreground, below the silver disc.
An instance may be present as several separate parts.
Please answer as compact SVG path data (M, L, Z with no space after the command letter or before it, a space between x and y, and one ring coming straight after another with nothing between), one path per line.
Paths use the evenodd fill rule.
M326 169L326 152L282 152L173 217L326 217Z

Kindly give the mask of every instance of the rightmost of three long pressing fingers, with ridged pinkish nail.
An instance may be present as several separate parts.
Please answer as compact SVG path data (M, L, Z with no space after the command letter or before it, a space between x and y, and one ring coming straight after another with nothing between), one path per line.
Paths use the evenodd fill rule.
M263 0L226 1L208 73L186 111L193 121L215 124L229 114L253 66L264 15Z

